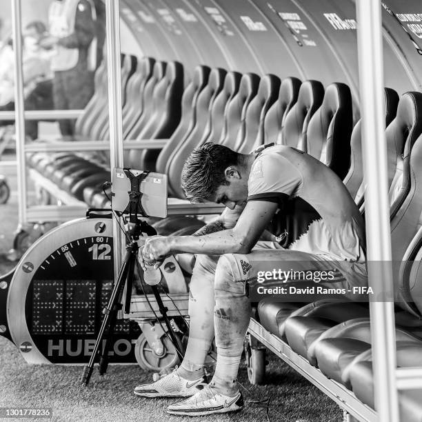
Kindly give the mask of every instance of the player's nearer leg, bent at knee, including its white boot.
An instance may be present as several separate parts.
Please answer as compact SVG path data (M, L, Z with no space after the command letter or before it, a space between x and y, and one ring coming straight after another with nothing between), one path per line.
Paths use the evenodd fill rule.
M214 329L217 368L208 386L194 396L170 405L170 414L202 415L239 410L243 398L237 384L243 341L250 321L250 301L246 283L258 272L281 270L322 270L330 261L300 251L283 249L254 250L250 254L225 254L215 274Z

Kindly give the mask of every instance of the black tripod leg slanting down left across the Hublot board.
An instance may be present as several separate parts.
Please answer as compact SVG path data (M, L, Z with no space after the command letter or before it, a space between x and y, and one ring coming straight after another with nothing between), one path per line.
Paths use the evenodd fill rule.
M123 292L123 288L125 285L124 283L126 279L126 274L128 274L129 261L130 261L131 256L132 256L132 252L128 250L125 254L125 258L123 260L121 269L119 271L119 277L117 277L117 281L114 284L114 288L112 290L110 300L108 301L108 305L103 310L104 318L103 318L103 322L101 323L99 334L97 336L97 341L95 342L94 349L92 350L92 354L90 357L90 361L88 362L88 365L86 365L83 368L83 374L81 377L81 383L83 385L88 385L88 383L90 382L92 371L94 370L95 359L97 359L97 354L99 354L100 352L101 343L103 341L103 336L106 332L106 328L108 327L109 332L112 332L114 329L114 324L116 323L116 317L114 317L113 319L112 315L115 314L117 316L116 305L119 305L121 301L121 294ZM112 322L113 324L111 325ZM108 336L108 338L110 338L110 336ZM107 342L106 342L106 346L107 346ZM105 347L101 354L101 359L103 359L104 356L107 356L107 354L108 354L108 349Z

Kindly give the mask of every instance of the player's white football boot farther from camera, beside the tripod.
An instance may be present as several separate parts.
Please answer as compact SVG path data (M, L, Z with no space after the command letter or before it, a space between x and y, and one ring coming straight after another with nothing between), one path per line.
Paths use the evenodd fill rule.
M190 397L207 385L205 376L190 381L182 378L176 370L163 375L158 381L138 385L134 394L143 397Z

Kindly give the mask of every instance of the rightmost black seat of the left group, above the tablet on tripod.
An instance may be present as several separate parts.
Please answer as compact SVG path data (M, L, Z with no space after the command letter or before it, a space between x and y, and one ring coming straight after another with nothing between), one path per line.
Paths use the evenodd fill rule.
M153 113L145 128L137 137L141 139L168 139L181 119L181 97L183 95L183 66L170 61L165 69L165 77L154 88ZM155 170L160 150L139 150L129 154L134 168ZM138 167L136 167L138 166Z

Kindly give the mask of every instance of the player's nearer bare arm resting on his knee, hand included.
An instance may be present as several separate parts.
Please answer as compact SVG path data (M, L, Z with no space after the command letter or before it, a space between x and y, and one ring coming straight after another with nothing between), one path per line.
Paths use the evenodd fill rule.
M194 254L248 254L268 225L277 203L250 201L232 229L205 234L203 236L170 236L150 238L146 241L143 257L159 261L168 254L191 252Z

